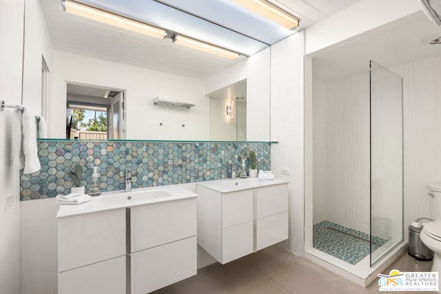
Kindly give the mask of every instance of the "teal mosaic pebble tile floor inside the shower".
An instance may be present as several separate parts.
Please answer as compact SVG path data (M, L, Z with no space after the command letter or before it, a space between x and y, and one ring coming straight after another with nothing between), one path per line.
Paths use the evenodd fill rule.
M373 236L373 251L387 240ZM313 246L350 264L356 264L370 252L369 234L326 220L314 224Z

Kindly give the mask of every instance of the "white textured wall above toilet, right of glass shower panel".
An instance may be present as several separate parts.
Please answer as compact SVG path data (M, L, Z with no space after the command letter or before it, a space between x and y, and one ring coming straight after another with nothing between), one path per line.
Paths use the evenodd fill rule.
M441 56L391 67L403 78L404 238L415 218L429 216L427 182L441 182Z

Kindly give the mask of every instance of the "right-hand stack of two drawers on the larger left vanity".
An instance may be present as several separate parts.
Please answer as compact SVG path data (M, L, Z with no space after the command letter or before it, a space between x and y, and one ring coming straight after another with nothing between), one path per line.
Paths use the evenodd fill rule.
M131 293L196 275L196 198L130 209Z

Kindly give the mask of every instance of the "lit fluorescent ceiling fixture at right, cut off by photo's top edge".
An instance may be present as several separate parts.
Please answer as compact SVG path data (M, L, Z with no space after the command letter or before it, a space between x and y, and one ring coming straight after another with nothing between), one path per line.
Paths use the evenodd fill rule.
M298 27L298 19L265 0L232 0L240 6L260 14L262 17L284 26L288 30Z

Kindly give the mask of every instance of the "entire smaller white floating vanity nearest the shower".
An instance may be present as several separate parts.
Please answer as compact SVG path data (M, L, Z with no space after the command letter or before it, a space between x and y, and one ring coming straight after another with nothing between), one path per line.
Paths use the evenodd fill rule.
M288 182L197 183L198 244L225 264L288 238Z

